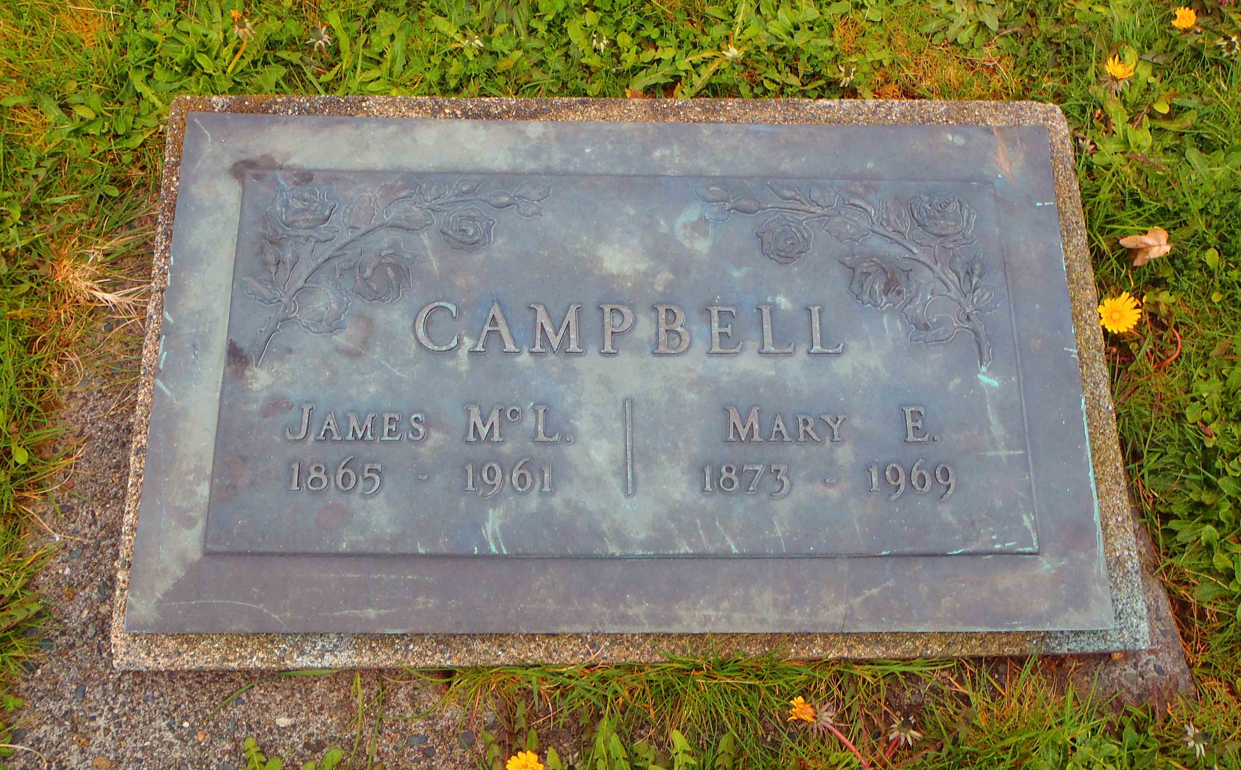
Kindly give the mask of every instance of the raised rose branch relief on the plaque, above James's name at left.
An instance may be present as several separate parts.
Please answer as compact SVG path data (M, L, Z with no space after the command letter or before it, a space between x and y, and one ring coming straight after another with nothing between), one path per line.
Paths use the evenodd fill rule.
M413 286L400 232L418 232L439 221L439 235L454 251L475 253L491 245L495 219L485 207L513 209L521 217L542 215L546 184L526 180L511 192L482 192L484 181L401 175L341 205L335 185L288 185L277 176L276 200L261 216L259 268L244 277L246 293L273 306L258 332L251 359L258 366L280 328L297 322L311 334L345 328L349 294L364 302L396 302ZM382 241L370 237L388 230ZM323 268L334 266L331 274ZM351 283L345 286L346 278Z

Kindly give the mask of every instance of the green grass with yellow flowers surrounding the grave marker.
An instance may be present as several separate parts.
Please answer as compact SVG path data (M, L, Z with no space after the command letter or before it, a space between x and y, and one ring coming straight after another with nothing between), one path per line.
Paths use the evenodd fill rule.
M915 751L933 748L920 766L1210 766L1179 741L1188 720L1212 734L1211 750L1225 753L1220 766L1237 766L1235 7L1194 2L1201 31L1181 34L1172 5L1153 0L69 5L0 4L0 626L7 607L29 606L22 586L32 563L20 537L40 524L17 510L19 496L29 507L57 468L45 451L55 389L77 375L72 356L89 335L92 308L117 302L107 294L113 260L140 246L120 238L158 194L161 125L175 96L1030 98L1060 104L1078 139L1101 294L1144 301L1134 332L1107 335L1108 358L1133 497L1160 550L1203 700L1117 713L1056 694L1062 672L1044 663L776 658L468 671L448 695L472 704L496 694L509 704L494 733L499 755L525 745L531 728L546 743L575 720L594 741L587 754L598 743L607 755L604 768L619 766L614 745L640 766L650 759L634 749L644 739L675 764L671 730L692 745L680 760L700 768L849 766L853 754L838 739L789 732L782 718L791 698L828 693L841 708L840 729L870 761L886 750L897 709L912 708L889 693L920 688L913 707L926 738ZM244 40L233 10L238 27L249 25ZM326 50L307 43L318 25L333 38ZM1136 70L1118 96L1102 84L1113 53ZM1133 267L1117 240L1155 226L1175 248ZM21 622L0 628L2 671L27 652ZM910 756L902 749L887 764Z

